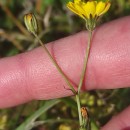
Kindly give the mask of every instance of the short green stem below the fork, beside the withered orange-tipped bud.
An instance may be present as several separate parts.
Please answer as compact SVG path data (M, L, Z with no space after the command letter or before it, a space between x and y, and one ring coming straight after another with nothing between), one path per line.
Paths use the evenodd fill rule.
M76 102L78 107L78 114L79 114L79 125L82 126L82 115L81 115L81 104L80 104L80 98L79 94L76 95Z

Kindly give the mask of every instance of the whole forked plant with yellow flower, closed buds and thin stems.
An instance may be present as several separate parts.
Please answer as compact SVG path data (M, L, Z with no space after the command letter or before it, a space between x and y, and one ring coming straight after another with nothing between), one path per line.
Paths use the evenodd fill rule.
M83 69L81 72L81 78L79 81L79 84L77 85L77 88L74 88L73 84L70 82L68 77L64 74L60 66L57 64L56 60L52 57L46 46L43 44L43 42L40 40L38 37L38 24L36 17L33 13L26 14L24 16L24 21L25 25L28 29L29 32L31 32L35 38L39 41L41 46L43 47L44 51L48 54L50 60L52 63L55 65L59 73L62 75L64 80L66 81L67 85L69 86L69 89L72 91L72 93L76 97L76 102L77 102L77 108L78 108L78 114L79 114L79 130L91 130L91 121L88 116L88 111L87 108L84 106L81 106L81 101L80 101L80 92L83 86L83 81L86 73L86 68L87 68L87 63L88 63L88 58L89 58L89 53L90 53L90 48L91 48L91 41L92 41L92 34L93 30L96 27L97 20L99 17L103 14L105 14L109 8L110 8L110 1L106 0L90 0L90 1L85 1L85 0L74 0L74 2L68 2L67 7L83 18L86 22L86 28L88 30L88 44L86 48L86 54L85 54L85 59L84 59L84 65Z

